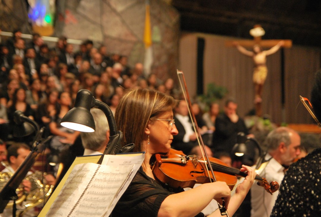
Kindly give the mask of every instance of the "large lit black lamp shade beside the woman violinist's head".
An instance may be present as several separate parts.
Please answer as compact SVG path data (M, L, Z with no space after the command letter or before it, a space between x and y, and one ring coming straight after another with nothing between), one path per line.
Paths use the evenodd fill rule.
M94 132L95 121L90 113L93 107L93 96L89 90L82 89L77 92L75 106L61 119L61 125L81 132Z

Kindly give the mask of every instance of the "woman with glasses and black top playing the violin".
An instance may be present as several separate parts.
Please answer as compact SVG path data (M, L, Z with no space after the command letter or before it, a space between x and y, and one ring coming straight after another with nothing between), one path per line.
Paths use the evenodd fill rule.
M127 92L116 109L117 127L123 132L123 144L135 143L134 151L144 151L144 162L130 186L117 203L114 216L204 216L200 213L212 199L232 216L253 184L256 173L248 166L246 179L231 197L225 182L205 183L194 189L171 189L156 181L150 165L156 153L168 153L173 135L178 133L172 109L176 101L153 90L135 89ZM221 216L219 210L209 216Z

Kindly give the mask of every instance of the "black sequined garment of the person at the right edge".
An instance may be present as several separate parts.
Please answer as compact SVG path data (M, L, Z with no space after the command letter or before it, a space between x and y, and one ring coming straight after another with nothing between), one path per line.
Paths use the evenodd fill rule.
M271 217L320 215L321 149L316 149L285 173Z

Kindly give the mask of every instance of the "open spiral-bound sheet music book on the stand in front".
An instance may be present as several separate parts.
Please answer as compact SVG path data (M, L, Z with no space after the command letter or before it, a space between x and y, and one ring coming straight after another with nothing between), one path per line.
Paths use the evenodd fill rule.
M103 216L134 165L75 165L46 216Z

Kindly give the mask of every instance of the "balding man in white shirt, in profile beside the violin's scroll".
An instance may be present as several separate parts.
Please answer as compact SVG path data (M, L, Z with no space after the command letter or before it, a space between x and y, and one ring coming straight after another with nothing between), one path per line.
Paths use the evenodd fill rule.
M266 178L268 183L277 181L281 184L284 170L300 154L300 136L287 127L278 127L270 132L265 140L268 153L265 168L257 175ZM253 184L251 187L251 217L269 217L279 191L271 195L263 187Z

